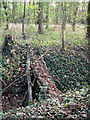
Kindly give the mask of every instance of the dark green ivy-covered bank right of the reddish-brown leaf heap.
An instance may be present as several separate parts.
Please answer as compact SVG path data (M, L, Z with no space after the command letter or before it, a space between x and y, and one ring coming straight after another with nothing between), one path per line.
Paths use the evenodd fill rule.
M88 63L85 56L87 48L73 47L66 48L65 51L54 50L55 53L50 53L45 56L48 69L61 91L74 90L87 85L88 78Z

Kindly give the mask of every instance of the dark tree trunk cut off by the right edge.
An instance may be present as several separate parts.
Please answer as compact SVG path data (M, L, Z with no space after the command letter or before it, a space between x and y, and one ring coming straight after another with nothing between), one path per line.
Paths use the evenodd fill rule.
M87 16L87 39L88 39L88 62L90 71L90 1L88 3L88 16Z

